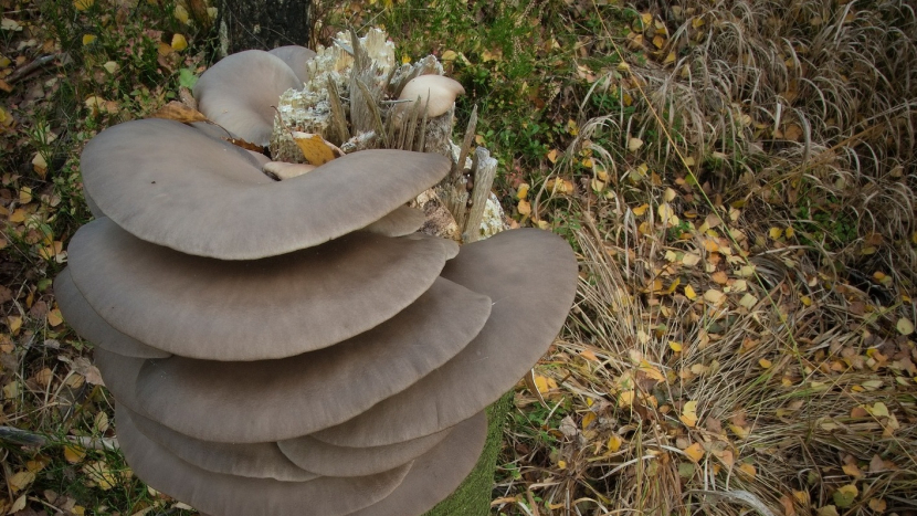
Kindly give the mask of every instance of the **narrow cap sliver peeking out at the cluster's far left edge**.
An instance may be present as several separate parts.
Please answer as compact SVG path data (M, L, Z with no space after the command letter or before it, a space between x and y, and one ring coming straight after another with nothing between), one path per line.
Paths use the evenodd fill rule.
M67 324L83 338L108 351L138 358L168 358L172 354L128 337L96 314L64 268L54 278L54 296Z

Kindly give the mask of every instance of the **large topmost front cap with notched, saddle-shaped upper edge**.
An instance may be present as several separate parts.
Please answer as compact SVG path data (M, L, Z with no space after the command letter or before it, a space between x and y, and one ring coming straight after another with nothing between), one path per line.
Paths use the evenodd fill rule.
M165 119L106 129L82 157L86 190L118 225L221 260L288 253L365 228L450 167L434 154L363 150L277 182L246 150Z

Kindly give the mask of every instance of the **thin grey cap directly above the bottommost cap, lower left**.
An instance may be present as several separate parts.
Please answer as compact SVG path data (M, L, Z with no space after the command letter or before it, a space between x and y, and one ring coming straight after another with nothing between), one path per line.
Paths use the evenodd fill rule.
M124 406L119 407L119 410L129 411ZM145 436L175 453L182 461L201 470L250 478L274 478L284 482L306 482L319 476L294 464L286 455L281 453L277 443L226 444L200 441L170 430L137 412L130 412L129 417L137 430ZM391 470L407 462L402 461L400 464L382 471Z

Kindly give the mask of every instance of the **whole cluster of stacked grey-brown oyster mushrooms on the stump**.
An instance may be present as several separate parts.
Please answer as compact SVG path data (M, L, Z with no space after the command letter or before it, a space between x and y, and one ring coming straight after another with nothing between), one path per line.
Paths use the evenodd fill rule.
M243 54L271 64L218 64L194 93L259 141L309 51ZM355 151L285 181L266 159L207 126L102 131L82 157L96 219L71 241L59 305L156 489L217 516L421 515L562 326L573 254L540 230L461 249L415 232L405 203L452 167L436 154Z

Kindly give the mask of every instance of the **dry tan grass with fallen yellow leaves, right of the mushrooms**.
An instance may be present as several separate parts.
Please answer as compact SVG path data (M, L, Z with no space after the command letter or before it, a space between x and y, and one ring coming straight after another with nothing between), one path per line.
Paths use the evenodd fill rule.
M581 278L521 399L569 414L516 436L551 464L521 512L911 514L915 8L657 3L605 25L618 105L557 170L593 162L582 204L533 202Z

